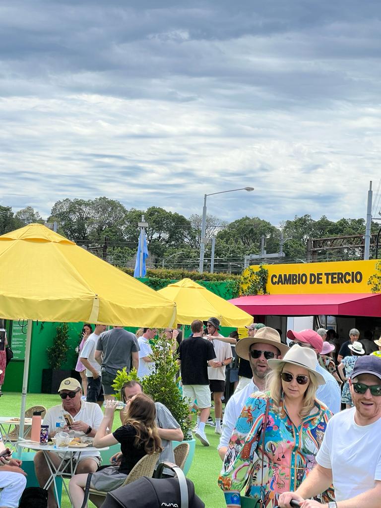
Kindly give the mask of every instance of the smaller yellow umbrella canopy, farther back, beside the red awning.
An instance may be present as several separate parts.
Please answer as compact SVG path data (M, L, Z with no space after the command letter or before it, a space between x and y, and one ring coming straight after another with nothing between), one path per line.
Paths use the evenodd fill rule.
M252 323L252 316L224 298L215 295L194 280L182 279L157 291L177 305L177 322L190 325L193 320L217 317L221 326L242 327Z

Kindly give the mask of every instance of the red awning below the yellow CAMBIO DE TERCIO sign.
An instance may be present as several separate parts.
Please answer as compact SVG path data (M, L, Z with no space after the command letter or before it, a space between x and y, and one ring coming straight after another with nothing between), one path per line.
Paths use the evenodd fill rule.
M229 300L252 315L381 317L381 294L253 295Z

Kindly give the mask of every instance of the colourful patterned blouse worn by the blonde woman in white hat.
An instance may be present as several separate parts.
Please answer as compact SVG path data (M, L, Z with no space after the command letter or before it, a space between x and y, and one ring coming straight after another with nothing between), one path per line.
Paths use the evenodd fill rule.
M246 401L230 438L224 468L218 484L225 493L227 506L241 506L241 490L255 501L261 499L262 424L269 394L256 392ZM315 402L315 407L296 427L284 402L275 410L270 398L265 433L264 506L278 506L282 492L296 490L315 463L331 411ZM259 444L259 441L260 444ZM328 499L328 497L330 499ZM331 500L331 494L324 496Z

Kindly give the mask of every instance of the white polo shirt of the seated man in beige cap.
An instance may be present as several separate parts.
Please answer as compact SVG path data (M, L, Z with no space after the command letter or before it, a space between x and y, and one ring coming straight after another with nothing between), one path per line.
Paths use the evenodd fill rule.
M46 415L44 416L44 425L49 425L49 433L55 432L55 423L60 416L65 411L63 409L62 404L58 404L57 406L53 406L46 411ZM73 420L78 422L82 421L87 423L90 427L97 430L101 425L103 420L103 412L98 404L94 402L85 402L81 400L81 408L77 412L75 416L72 416ZM76 432L75 437L83 437L86 434L84 432ZM99 452L82 452L81 451L81 460L85 457L100 457L101 454Z

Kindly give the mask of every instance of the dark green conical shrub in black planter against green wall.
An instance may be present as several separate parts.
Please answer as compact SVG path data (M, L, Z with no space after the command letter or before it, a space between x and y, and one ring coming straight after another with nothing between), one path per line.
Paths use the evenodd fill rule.
M61 323L57 326L52 346L46 349L50 369L42 370L42 393L57 393L62 379L71 375L71 370L61 369L61 366L67 361L68 339L69 325Z

